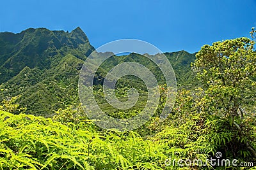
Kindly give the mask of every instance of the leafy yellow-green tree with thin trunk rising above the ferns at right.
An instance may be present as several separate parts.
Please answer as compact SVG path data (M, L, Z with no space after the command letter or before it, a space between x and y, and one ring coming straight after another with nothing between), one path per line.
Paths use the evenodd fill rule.
M255 31L251 32L252 38ZM254 104L256 76L255 40L236 38L204 45L191 64L197 76L207 86L205 101L207 113L227 119L237 129L236 137L253 157L250 124L246 120L253 115L250 106Z

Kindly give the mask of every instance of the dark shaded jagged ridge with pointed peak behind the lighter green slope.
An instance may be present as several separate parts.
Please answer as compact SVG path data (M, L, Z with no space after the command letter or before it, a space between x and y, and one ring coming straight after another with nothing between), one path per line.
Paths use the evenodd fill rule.
M68 33L48 29L26 29L19 34L0 33L0 83L16 76L24 67L50 69L67 52L86 59L94 50L84 32L77 27Z

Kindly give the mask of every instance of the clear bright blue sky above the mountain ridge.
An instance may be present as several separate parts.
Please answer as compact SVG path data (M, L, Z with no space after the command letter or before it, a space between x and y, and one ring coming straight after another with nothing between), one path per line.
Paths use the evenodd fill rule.
M163 52L197 52L205 44L250 36L256 0L2 0L0 32L29 27L72 31L77 26L95 48L135 38Z

